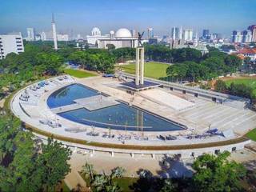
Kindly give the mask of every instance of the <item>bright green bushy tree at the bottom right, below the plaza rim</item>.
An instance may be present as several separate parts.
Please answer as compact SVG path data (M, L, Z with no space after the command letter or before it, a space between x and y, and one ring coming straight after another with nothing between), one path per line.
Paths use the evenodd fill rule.
M204 154L199 156L193 164L195 191L239 191L240 178L246 175L242 164L228 161L229 152L214 156Z

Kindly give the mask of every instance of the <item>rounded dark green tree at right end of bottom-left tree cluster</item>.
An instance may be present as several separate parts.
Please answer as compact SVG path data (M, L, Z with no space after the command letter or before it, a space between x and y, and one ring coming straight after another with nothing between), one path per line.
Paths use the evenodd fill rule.
M46 190L52 189L59 180L70 172L71 150L62 147L61 142L48 138L48 143L42 144L42 154L38 157L38 173L42 175L42 184Z

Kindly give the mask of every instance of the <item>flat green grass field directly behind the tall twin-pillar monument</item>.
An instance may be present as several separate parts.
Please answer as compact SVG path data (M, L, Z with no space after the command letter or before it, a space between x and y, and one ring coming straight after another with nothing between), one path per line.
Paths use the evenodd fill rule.
M161 62L145 62L145 76L148 78L165 78L166 69L170 66ZM119 66L118 66L119 67ZM122 70L129 74L135 74L135 64L120 66Z

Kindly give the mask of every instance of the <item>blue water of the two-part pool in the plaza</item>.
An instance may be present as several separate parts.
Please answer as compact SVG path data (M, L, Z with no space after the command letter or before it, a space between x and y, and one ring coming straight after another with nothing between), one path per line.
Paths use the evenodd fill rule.
M82 93L81 93L82 92ZM74 99L97 95L98 92L86 86L74 84L54 92L48 98L50 108L73 103ZM174 122L160 118L149 112L120 103L99 110L86 110L85 108L58 114L74 122L113 130L144 130L144 131L170 131L183 128Z

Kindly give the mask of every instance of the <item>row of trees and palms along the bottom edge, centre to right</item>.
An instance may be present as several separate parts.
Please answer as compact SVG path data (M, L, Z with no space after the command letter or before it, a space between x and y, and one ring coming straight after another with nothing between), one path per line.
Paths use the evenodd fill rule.
M137 171L138 180L131 184L130 190L135 192L244 191L242 180L248 179L246 169L240 163L227 160L229 155L229 152L224 152L218 155L199 156L192 165L194 170L192 178L159 178L154 177L150 170L140 169ZM88 163L82 169L82 174L93 191L106 192L123 191L115 178L122 178L124 172L124 169L117 167L111 170L109 175L95 174L93 166Z

